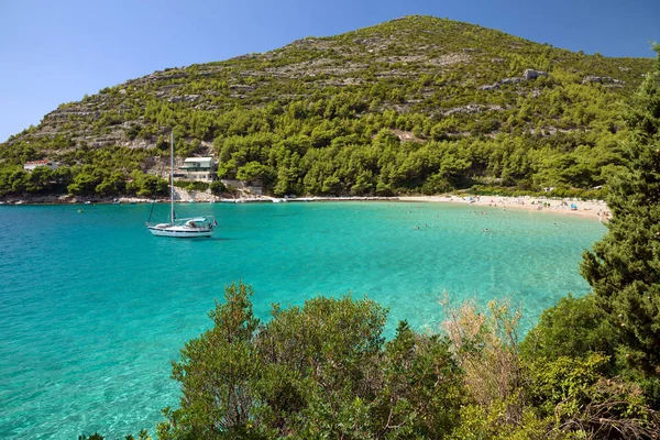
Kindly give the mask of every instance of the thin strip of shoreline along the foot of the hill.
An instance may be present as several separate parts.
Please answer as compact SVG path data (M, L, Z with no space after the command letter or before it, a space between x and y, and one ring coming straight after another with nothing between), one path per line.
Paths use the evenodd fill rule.
M432 202L432 204L464 204L479 207L495 207L518 209L536 212L554 212L568 216L597 219L598 221L610 218L609 209L603 200L580 201L574 199L557 199L547 197L508 197L508 196L398 196L398 197L296 197L276 198L270 196L254 196L252 198L221 198L204 194L179 195L175 204L255 204L255 202L310 202L310 201L400 201L400 202ZM31 200L30 200L31 199ZM11 198L0 200L0 206L36 206L36 205L141 205L141 204L168 204L168 199L147 199L140 197L70 197L70 196L42 196L32 198ZM575 205L576 209L571 209Z

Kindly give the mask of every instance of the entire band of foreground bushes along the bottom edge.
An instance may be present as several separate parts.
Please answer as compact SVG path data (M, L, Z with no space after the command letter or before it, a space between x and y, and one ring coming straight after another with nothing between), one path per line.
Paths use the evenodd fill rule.
M254 317L226 287L213 327L173 363L182 397L157 437L179 439L654 439L652 386L622 370L593 298L568 297L518 342L508 301L451 308L438 334L369 299L318 297ZM570 338L559 338L565 331ZM557 338L557 340L554 340ZM582 338L578 343L573 339ZM522 349L521 349L522 348ZM651 397L651 398L649 398ZM98 435L97 435L98 436ZM95 438L95 437L92 437ZM96 437L101 438L101 437ZM145 431L140 438L147 439Z

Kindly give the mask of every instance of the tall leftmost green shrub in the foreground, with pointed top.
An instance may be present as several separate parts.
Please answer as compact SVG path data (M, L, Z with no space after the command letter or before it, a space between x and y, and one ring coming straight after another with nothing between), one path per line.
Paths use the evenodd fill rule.
M252 344L258 319L252 312L251 287L226 287L224 304L209 312L213 328L186 343L172 376L182 384L180 408L166 409L163 439L212 439L244 429L254 404L250 382L257 369Z

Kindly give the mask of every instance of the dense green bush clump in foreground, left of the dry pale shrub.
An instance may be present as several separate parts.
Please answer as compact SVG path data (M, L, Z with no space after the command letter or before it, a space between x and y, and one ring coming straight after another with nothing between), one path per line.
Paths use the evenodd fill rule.
M385 343L387 310L351 297L274 306L262 323L251 295L229 286L215 327L182 350L180 408L161 438L441 438L458 424L464 393L444 339L402 322Z

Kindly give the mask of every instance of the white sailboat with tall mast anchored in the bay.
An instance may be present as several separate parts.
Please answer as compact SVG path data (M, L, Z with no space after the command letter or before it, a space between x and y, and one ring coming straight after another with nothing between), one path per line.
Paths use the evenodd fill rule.
M151 213L146 221L146 229L156 237L175 237L194 239L197 237L212 237L213 228L218 226L211 216L198 216L187 219L177 219L174 212L174 133L170 134L170 164L169 164L169 223L152 223ZM153 206L152 206L153 212Z

